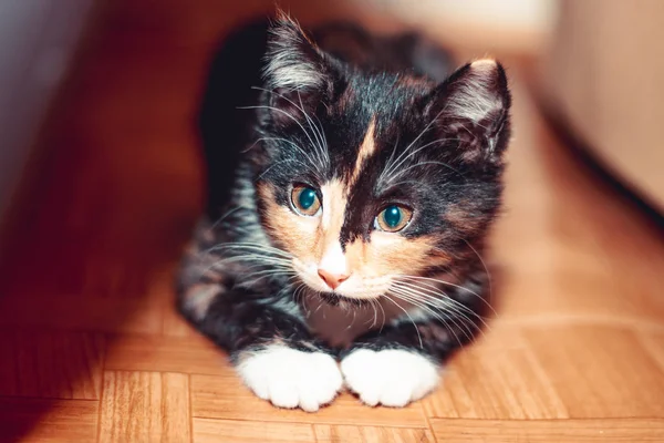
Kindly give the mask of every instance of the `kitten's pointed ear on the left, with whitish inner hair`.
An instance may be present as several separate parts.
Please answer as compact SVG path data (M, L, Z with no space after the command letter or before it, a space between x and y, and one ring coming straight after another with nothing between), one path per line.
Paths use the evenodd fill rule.
M266 85L273 90L300 92L320 89L325 84L326 70L319 48L293 19L278 11L269 29L263 70Z

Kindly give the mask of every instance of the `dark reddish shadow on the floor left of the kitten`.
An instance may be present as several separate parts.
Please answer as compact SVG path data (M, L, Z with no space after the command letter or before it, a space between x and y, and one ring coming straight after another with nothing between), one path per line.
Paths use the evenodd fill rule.
M345 12L288 3L302 20ZM2 441L60 412L58 399L72 401L71 421L46 425L98 425L91 405L116 334L160 334L174 309L172 289L155 288L170 288L203 209L194 122L211 55L273 3L168 4L104 3L24 173L0 251ZM210 16L214 25L198 24Z

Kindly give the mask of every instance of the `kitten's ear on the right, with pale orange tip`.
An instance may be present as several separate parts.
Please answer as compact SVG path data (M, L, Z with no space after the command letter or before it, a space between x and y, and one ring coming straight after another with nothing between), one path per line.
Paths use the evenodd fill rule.
M479 60L438 87L428 115L446 137L459 141L461 161L497 164L510 136L510 106L505 69L495 60Z

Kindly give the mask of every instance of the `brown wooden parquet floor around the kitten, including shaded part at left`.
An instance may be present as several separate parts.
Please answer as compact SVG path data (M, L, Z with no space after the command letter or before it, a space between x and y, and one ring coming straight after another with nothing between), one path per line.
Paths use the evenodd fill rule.
M1 442L664 441L662 235L563 150L516 66L484 337L403 410L255 398L173 309L201 199L190 123L229 19L147 3L91 34L4 250Z

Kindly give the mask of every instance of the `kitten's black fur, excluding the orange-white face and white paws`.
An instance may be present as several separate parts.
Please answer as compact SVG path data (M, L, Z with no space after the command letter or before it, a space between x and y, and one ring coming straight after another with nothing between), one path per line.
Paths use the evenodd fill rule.
M356 176L342 246L369 241L386 204L412 208L407 229L396 235L430 239L450 260L430 255L421 276L456 276L476 296L455 290L448 297L477 315L397 321L350 349L401 347L444 358L479 328L486 275L478 254L499 212L510 137L505 70L483 61L449 75L449 58L413 34L376 38L338 23L311 35L284 17L272 25L253 23L231 34L212 63L199 121L210 223L197 228L197 247L183 261L180 310L234 359L273 342L340 352L310 331L299 303L302 287L271 265L283 255L264 229L270 215L257 185L290 207L294 183L320 187ZM355 171L371 122L375 148ZM206 303L194 311L191 289L215 297L201 297Z

